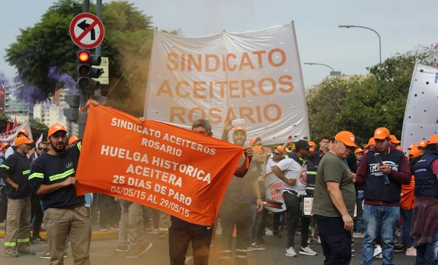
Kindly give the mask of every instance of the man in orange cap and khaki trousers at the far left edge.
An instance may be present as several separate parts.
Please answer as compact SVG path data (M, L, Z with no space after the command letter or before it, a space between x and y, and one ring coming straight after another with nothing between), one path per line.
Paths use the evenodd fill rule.
M0 175L6 182L6 196L8 196L3 255L15 258L20 255L35 255L35 252L29 249L30 164L26 157L33 141L25 136L18 136L13 142L16 151L0 165Z

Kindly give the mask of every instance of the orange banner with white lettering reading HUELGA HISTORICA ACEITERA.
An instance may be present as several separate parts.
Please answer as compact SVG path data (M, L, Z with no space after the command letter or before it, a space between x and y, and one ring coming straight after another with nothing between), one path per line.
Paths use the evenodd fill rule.
M243 153L210 136L90 105L76 192L109 194L213 225Z

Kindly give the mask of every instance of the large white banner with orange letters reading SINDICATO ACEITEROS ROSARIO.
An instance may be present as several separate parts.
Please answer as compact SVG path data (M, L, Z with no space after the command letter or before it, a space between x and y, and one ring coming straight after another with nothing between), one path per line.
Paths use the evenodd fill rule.
M244 119L248 141L308 137L293 23L207 37L155 30L144 114L186 128L208 119L217 138L232 119Z

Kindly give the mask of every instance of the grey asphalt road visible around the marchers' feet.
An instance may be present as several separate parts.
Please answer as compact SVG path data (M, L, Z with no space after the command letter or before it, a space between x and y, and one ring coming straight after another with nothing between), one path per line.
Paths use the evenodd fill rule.
M298 257L287 257L285 256L285 242L286 235L285 231L282 232L282 238L275 238L272 236L266 236L265 239L268 242L268 247L266 250L256 250L249 252L249 264L254 265L266 265L266 264L293 264L293 265L310 265L310 264L323 264L324 256L322 254L321 245L311 245L310 247L314 251L318 252L315 257L302 256L298 254ZM168 259L168 247L167 240L160 240L158 235L148 234L151 242L153 242L153 247L149 249L148 252L143 254L143 256L138 259L124 259L123 252L116 252L115 248L117 246L117 240L106 240L106 241L92 241L90 248L90 261L93 265L155 265L155 264L169 264ZM220 235L216 235L215 239L218 241ZM300 236L295 236L295 246L300 245ZM4 240L0 240L1 246L3 246ZM356 242L356 257L353 257L350 264L360 264L361 261L361 246L362 238L355 237ZM47 244L35 244L32 245L32 250L40 254L45 252L47 249ZM295 247L297 250L297 247ZM3 252L3 249L1 249ZM210 263L218 264L217 259L218 250L216 248L211 249ZM374 260L375 264L381 264L381 259ZM38 256L22 256L19 258L8 258L0 255L1 265L40 265L49 264L48 259L40 259ZM64 264L72 265L73 258L71 257L71 249L69 248L69 257L64 259ZM188 263L192 264L192 263ZM407 257L404 252L394 254L394 264L415 264L415 257Z

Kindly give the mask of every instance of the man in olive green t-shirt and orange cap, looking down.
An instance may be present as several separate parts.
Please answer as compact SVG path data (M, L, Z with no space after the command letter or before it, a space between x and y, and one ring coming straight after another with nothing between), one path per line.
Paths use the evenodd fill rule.
M350 131L336 134L331 150L319 162L312 214L321 236L325 264L349 264L356 192L345 158L357 148Z

